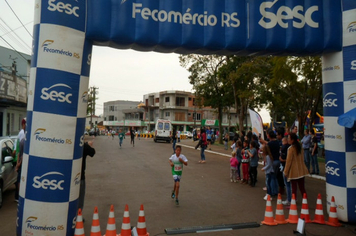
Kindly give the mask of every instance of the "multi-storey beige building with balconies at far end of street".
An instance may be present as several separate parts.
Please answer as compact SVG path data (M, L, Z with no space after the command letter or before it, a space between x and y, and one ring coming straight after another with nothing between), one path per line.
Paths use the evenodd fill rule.
M141 132L153 131L157 119L170 120L180 131L192 131L205 124L212 128L218 120L216 109L198 106L194 93L168 90L143 95L143 102L111 101L104 103L104 126L108 130L131 127ZM250 119L247 119L249 126ZM235 109L223 113L222 125L225 130L236 127L238 116ZM215 123L216 124L216 123Z

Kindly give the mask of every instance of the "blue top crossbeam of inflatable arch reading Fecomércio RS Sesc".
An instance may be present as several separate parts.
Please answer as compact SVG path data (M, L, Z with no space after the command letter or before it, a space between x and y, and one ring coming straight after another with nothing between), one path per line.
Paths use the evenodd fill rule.
M139 51L312 55L341 50L341 14L340 0L89 0L86 37Z

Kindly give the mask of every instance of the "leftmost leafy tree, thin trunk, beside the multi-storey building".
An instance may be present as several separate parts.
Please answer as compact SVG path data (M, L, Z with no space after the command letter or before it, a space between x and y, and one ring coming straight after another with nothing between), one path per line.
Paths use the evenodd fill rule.
M219 74L219 68L226 63L226 58L216 55L191 54L180 55L179 61L181 66L190 72L189 82L193 85L198 100L201 100L205 106L217 109L221 132L223 109L232 105L231 100L226 97L229 93L228 88ZM219 137L219 143L222 144L222 135Z

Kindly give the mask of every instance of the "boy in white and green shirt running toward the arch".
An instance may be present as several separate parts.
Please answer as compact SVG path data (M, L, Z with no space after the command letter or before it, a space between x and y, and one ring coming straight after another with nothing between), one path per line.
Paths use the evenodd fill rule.
M171 197L176 198L176 205L179 205L178 194L179 194L179 182L182 178L183 164L188 165L188 159L180 154L182 147L180 145L176 146L175 154L169 158L169 164L172 167L172 175L174 179L174 188Z

